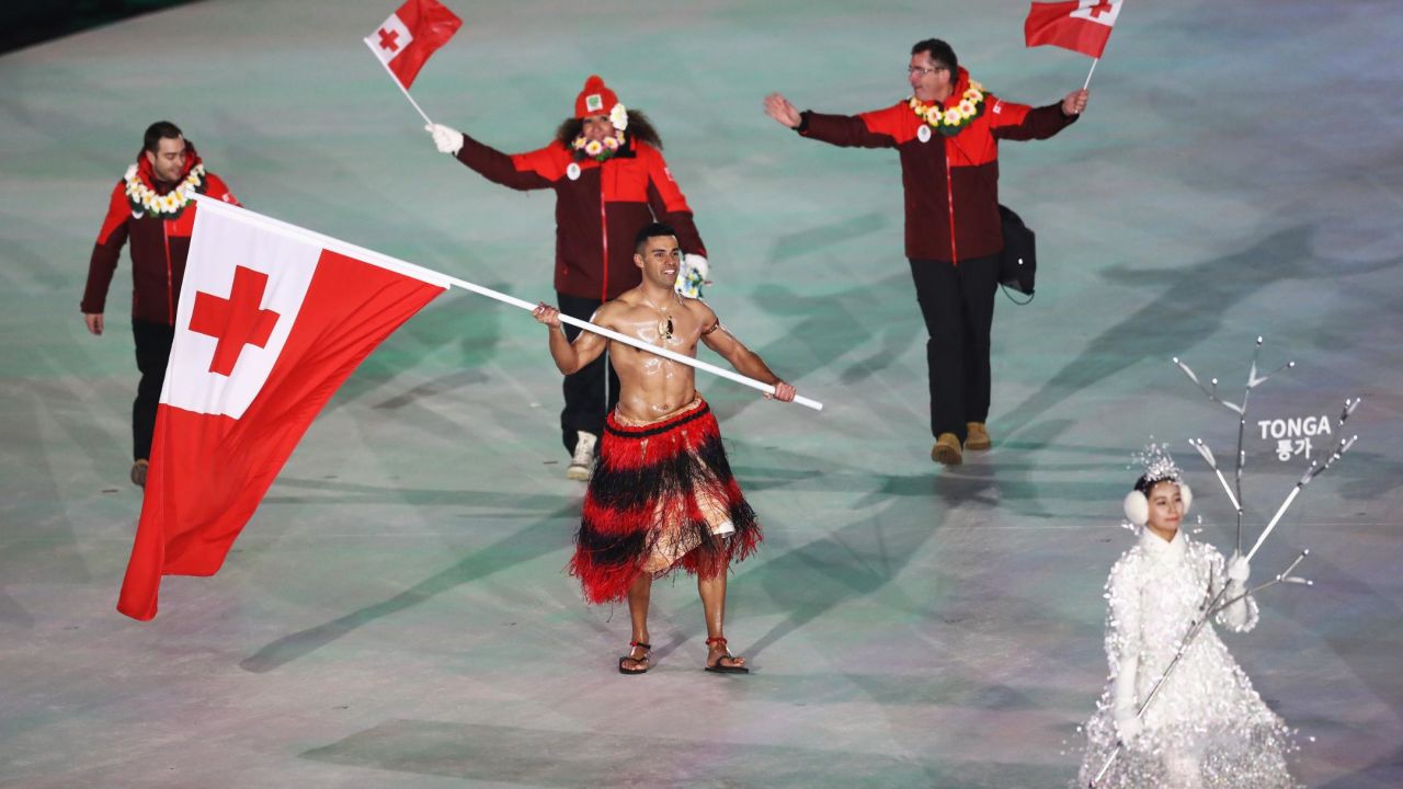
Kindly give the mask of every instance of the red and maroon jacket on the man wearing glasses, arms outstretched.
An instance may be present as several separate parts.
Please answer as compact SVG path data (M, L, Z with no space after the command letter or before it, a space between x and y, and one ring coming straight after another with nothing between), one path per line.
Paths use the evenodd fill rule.
M960 79L946 108L960 104L969 73ZM999 140L1047 139L1076 122L1061 104L1038 107L985 94L984 112L954 136L930 129L905 101L861 115L804 112L798 132L846 147L895 147L906 195L906 257L958 264L1003 248L999 219Z

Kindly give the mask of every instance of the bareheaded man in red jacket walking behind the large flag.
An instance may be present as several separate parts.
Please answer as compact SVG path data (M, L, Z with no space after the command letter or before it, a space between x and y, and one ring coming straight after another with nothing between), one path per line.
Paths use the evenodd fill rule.
M239 205L219 175L205 170L195 146L175 124L152 124L136 163L112 188L80 305L88 331L102 334L107 289L122 244L130 240L132 337L136 341L136 369L142 373L132 403L132 483L139 486L146 486L156 404L175 338L175 302L180 300L189 234L195 227L191 194Z

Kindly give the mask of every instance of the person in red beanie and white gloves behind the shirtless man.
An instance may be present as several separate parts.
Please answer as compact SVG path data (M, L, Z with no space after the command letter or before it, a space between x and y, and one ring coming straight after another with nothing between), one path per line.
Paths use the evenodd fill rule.
M575 112L546 147L505 154L462 132L434 124L434 143L484 178L513 190L556 191L556 296L560 312L588 320L607 300L641 281L633 237L650 222L676 227L686 260L676 289L697 296L707 275L706 247L692 208L662 159L662 140L648 118L627 110L602 79L591 76ZM574 340L579 333L565 327ZM619 402L619 376L600 357L563 385L561 439L572 455L565 476L588 480L595 444Z

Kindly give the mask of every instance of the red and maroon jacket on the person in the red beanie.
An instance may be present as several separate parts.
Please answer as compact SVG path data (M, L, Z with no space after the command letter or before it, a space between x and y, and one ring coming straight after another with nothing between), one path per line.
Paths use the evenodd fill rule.
M668 163L643 140L629 139L603 163L577 163L560 142L508 156L463 135L457 159L504 187L556 190L556 291L561 293L609 300L636 286L643 275L633 263L633 239L654 220L672 225L683 253L706 256Z

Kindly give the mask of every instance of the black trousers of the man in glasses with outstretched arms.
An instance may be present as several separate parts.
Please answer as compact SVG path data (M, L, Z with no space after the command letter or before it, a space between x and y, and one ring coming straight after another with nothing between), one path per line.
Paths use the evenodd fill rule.
M958 265L939 260L909 263L930 337L930 434L939 438L953 432L964 444L965 423L989 418L989 330L999 258L976 257Z

